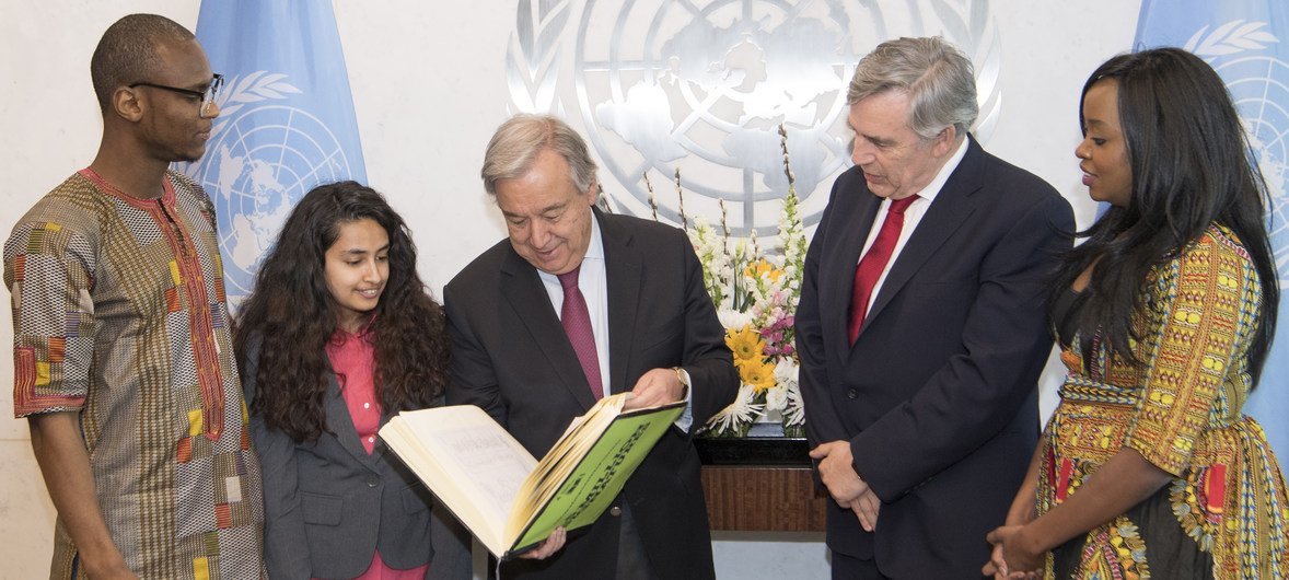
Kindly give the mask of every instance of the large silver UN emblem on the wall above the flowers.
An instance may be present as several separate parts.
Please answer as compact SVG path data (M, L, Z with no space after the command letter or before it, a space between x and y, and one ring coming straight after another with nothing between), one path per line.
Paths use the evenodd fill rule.
M626 189L608 192L623 213L650 213L650 174L659 217L679 223L679 169L687 215L719 215L723 200L731 233L766 236L788 192L779 125L803 218L817 222L851 165L856 63L884 40L937 34L976 64L976 133L987 137L1002 106L987 0L519 0L507 81L512 111L580 116Z

